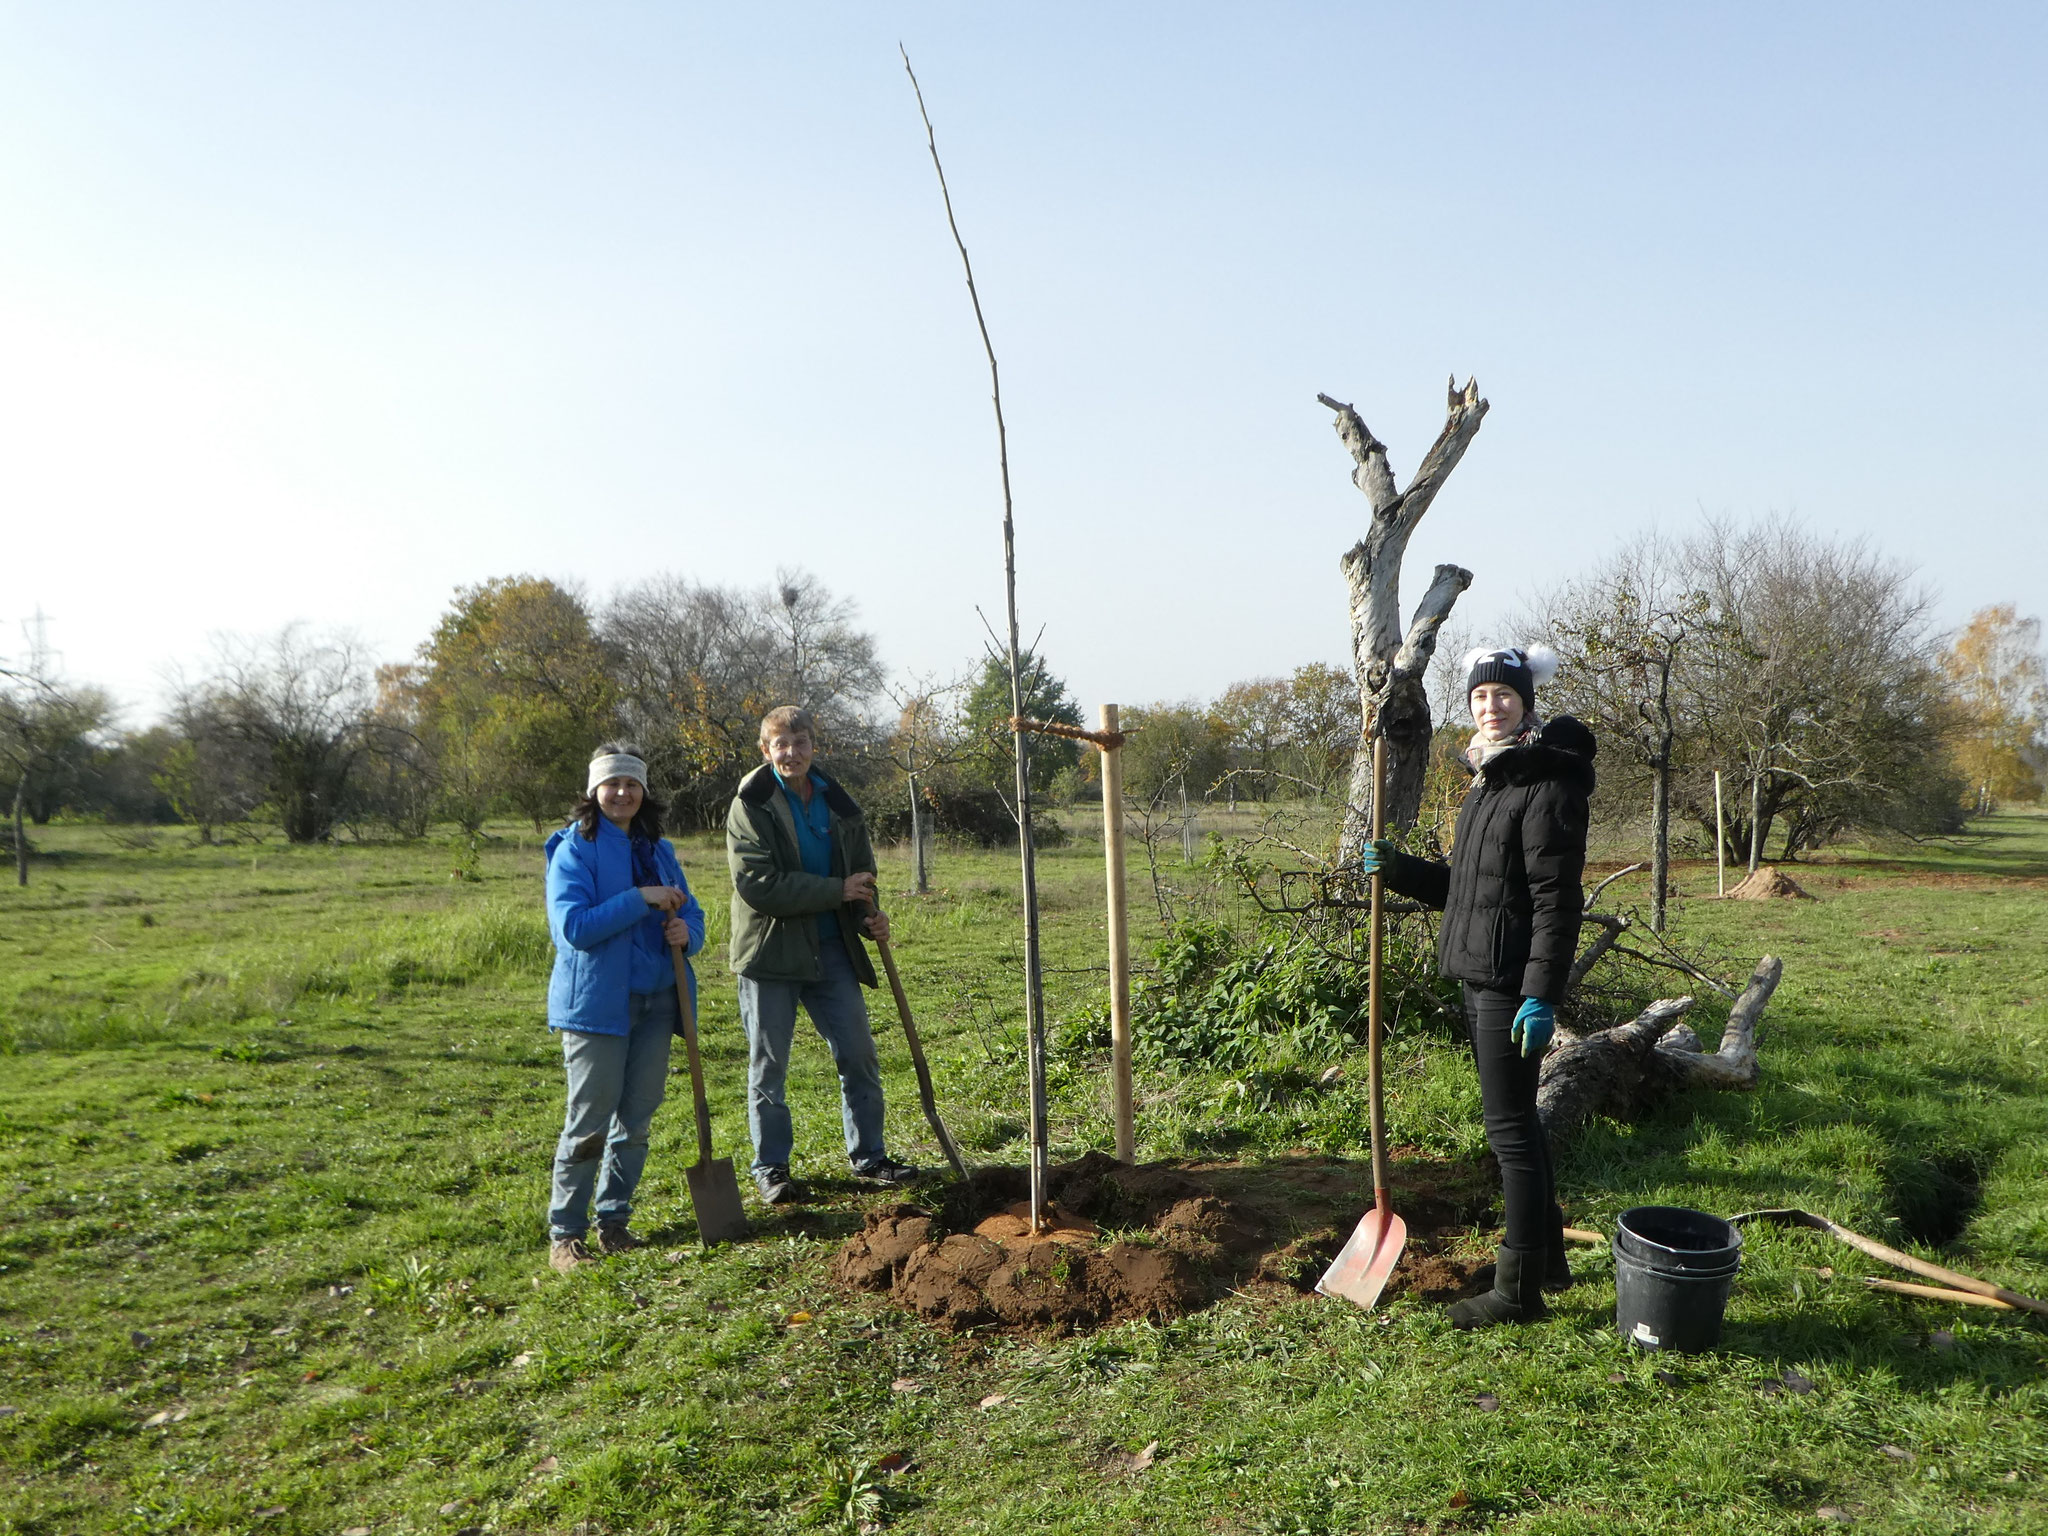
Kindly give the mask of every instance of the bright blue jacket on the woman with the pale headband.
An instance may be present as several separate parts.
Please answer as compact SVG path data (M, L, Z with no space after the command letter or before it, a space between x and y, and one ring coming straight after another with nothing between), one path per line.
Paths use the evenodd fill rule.
M676 913L690 930L686 954L705 948L705 909L688 895L676 850L664 838L653 846L655 870L664 885L684 891ZM633 883L633 840L610 821L598 821L598 836L584 838L573 825L547 840L547 930L555 940L555 973L547 983L547 1026L584 1034L625 1034L627 997L633 993L635 952L641 926L662 913ZM641 979L645 977L641 956ZM696 971L684 967L690 999L696 999Z

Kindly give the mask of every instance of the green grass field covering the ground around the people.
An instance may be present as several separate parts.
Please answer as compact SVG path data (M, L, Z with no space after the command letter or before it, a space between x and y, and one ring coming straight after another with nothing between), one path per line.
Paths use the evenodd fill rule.
M934 1333L827 1284L874 1196L844 1182L815 1040L793 1075L813 1208L754 1208L750 1241L700 1253L672 1096L655 1247L549 1276L539 840L496 831L453 879L446 842L51 827L0 893L0 1530L2048 1530L2040 1321L1872 1294L1876 1266L1810 1233L1751 1235L1696 1358L1620 1341L1602 1255L1550 1321L1481 1335L1407 1298L1235 1294L1077 1339ZM1802 864L1817 901L1677 903L1741 971L1786 958L1765 1085L1581 1135L1573 1221L1794 1204L2048 1292L2048 817L1972 834ZM723 850L682 854L743 1167ZM1065 1157L1110 1143L1100 848L1040 868ZM969 1157L1022 1161L1016 870L948 852L938 881L891 909L940 1098ZM1141 1155L1358 1155L1362 1071L1315 1087L1329 1061L1303 1051L1149 1069ZM936 1161L893 1030L883 1057L891 1149ZM1477 1155L1450 1036L1405 1026L1391 1061L1395 1139Z

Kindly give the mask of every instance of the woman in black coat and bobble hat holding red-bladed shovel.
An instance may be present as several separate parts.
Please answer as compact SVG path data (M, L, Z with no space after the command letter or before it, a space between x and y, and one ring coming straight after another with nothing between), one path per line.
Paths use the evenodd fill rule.
M1595 745L1569 715L1548 725L1536 715L1536 684L1556 672L1548 647L1479 649L1462 666L1479 731L1464 752L1473 786L1450 864L1376 842L1364 866L1391 891L1444 911L1438 971L1464 983L1464 1028L1487 1145L1501 1163L1507 1233L1493 1290L1456 1303L1450 1321L1489 1327L1542 1317L1544 1286L1571 1284L1536 1075L1579 948Z

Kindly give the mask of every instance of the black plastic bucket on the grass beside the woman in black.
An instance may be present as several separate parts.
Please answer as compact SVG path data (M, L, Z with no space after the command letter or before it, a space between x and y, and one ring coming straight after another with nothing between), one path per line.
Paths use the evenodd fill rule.
M1624 1210L1614 1233L1614 1323L1645 1350L1698 1354L1720 1343L1743 1235L1683 1206Z

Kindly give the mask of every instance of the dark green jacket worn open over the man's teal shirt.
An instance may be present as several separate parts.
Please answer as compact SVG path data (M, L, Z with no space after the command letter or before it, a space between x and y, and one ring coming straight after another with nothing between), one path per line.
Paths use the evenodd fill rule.
M739 780L725 813L725 864L733 872L733 975L754 981L817 981L817 918L840 913L840 940L862 987L874 985L874 963L858 938L866 909L840 899L846 877L872 874L874 844L854 799L825 778L819 791L831 813L831 874L807 874L797 852L797 819L766 762Z

